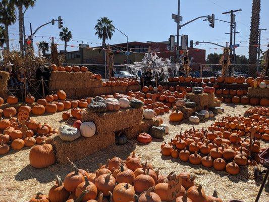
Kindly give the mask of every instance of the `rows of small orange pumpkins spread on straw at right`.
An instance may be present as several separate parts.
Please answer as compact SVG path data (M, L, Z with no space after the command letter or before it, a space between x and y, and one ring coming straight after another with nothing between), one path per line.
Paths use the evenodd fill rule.
M255 139L269 140L269 135L265 133L269 132L268 124L269 119L257 114L251 117L226 116L221 121L214 122L207 130L193 127L183 133L180 131L171 142L162 143L162 154L189 161L193 165L202 164L207 168L226 170L229 174L236 175L240 172L240 166L259 163L258 154L265 147L260 148L260 142ZM251 146L254 160L248 159L250 140L248 137L241 138L250 132L254 133Z

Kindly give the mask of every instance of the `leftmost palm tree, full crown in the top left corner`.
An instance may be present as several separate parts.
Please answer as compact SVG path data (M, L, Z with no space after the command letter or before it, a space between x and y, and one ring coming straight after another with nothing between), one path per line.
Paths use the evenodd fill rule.
M9 26L14 24L16 20L17 18L14 5L8 0L2 0L2 2L0 2L0 23L5 25L8 51L10 51Z

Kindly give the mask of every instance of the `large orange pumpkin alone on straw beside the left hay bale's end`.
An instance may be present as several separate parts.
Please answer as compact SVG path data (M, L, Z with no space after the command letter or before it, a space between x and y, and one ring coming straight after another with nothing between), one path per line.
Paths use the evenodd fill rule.
M56 162L55 152L51 144L36 145L29 154L30 164L34 168L45 168Z

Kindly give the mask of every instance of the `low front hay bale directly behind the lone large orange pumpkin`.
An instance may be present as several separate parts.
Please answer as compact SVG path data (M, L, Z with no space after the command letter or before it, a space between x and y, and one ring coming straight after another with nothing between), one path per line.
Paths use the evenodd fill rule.
M74 141L63 141L59 135L48 137L46 143L53 145L59 163L66 164L67 157L71 161L81 160L96 151L115 144L115 133L95 134L92 137L80 137Z

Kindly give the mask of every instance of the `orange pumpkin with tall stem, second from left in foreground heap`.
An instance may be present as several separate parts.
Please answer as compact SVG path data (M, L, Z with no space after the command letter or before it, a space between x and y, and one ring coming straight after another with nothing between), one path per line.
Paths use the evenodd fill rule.
M66 201L70 195L61 180L60 176L56 176L56 185L53 185L48 192L50 202Z

